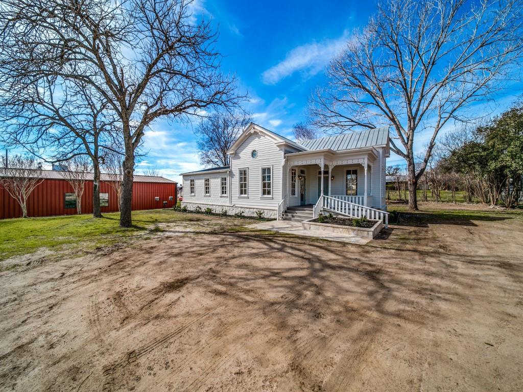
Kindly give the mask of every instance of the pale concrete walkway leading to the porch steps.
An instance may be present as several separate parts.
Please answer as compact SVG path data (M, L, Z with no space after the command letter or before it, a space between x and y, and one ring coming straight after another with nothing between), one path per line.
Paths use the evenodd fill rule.
M370 241L369 238L360 238L360 237L351 236L348 234L326 233L326 232L321 232L320 230L305 230L302 227L301 222L270 221L270 222L255 223L254 225L249 225L247 227L255 228L258 230L273 230L275 232L295 234L295 235L304 236L304 237L328 239L330 241L339 241L339 242L349 243L349 244L365 245Z

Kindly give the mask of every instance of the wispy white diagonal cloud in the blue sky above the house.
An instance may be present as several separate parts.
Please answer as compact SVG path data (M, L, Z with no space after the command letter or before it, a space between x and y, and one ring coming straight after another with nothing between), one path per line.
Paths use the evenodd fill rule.
M314 76L345 47L347 41L348 35L344 33L337 39L300 45L288 52L285 60L261 74L261 79L265 84L276 84L297 71L307 77Z

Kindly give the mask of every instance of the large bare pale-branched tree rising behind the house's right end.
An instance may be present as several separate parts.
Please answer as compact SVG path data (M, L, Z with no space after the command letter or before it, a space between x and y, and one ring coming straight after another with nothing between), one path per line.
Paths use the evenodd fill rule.
M311 102L314 124L330 132L391 126L391 149L407 162L409 208L449 121L484 101L518 72L523 48L520 0L390 0L329 65L328 87ZM429 132L416 165L414 143Z

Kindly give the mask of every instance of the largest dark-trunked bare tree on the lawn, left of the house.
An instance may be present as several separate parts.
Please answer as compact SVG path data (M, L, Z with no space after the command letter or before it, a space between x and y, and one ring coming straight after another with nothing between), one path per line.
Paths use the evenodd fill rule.
M80 80L117 116L123 227L132 225L135 153L147 127L238 102L234 78L219 71L216 33L209 22L194 24L189 3L5 0L0 7L2 93L51 75Z

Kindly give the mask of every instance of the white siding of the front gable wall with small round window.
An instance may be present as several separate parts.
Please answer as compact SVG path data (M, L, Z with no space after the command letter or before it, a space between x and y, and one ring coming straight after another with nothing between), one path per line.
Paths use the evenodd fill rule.
M253 158L253 150L258 156ZM278 208L281 201L283 152L268 137L254 133L237 148L231 157L232 204ZM261 197L261 168L272 166L272 196ZM248 169L247 197L238 196L238 170Z

